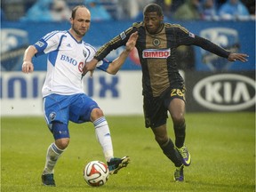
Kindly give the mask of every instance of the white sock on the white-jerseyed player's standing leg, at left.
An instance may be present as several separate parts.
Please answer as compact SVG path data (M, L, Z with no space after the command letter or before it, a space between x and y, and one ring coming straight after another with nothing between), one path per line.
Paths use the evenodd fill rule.
M46 162L45 162L43 174L50 174L54 172L54 166L57 163L57 160L59 159L63 151L64 150L57 148L55 143L52 143L49 146L46 153Z

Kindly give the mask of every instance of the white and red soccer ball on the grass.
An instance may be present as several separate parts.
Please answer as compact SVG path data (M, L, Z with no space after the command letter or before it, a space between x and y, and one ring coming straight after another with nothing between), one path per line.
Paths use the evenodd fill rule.
M84 167L84 180L89 186L100 187L108 181L107 164L100 161L91 161Z

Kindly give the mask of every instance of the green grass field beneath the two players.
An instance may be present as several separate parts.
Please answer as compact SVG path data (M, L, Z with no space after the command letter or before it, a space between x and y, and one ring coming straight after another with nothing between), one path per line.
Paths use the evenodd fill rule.
M104 161L92 124L70 124L70 144L55 167L56 188L41 185L46 148L52 134L44 117L2 117L1 191L255 191L255 114L187 114L186 145L192 164L185 182L172 179L174 166L164 156L142 116L107 116L116 156L132 162L110 175L100 188L87 186L84 165ZM169 135L173 139L169 119Z

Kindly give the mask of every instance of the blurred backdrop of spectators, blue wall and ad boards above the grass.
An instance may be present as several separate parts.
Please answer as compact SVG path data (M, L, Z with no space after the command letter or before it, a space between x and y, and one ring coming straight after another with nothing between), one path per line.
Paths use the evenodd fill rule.
M84 41L98 49L133 22L142 21L143 7L149 3L162 6L165 22L250 56L246 63L228 62L198 47L180 46L177 62L188 90L188 112L255 111L255 0L2 0L1 115L42 115L46 56L35 58L35 72L24 75L23 53L46 33L68 30L74 6L85 4L91 11L92 24ZM115 59L123 49L107 59ZM99 71L93 79L85 76L84 84L84 92L98 100L105 113L142 115L136 50L116 76Z

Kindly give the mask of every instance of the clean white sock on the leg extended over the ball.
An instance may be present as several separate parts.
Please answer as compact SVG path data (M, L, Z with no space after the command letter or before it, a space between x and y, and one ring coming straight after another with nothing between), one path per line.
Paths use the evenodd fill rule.
M103 154L107 162L114 157L112 140L108 128L108 122L106 121L105 116L101 116L99 119L93 122L95 127L95 133L97 139L100 142Z

